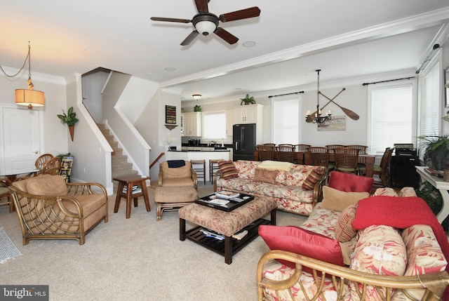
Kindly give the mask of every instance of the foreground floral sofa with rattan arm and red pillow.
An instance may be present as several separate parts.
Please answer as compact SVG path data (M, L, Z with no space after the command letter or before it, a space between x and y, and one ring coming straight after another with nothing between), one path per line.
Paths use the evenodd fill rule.
M404 187L399 194L391 188L377 189L374 196L387 196L393 201L419 199L412 187ZM373 196L357 201L354 206L358 203L360 208L362 201L370 199ZM438 244L438 235L429 225L403 229L370 225L358 229L354 237L349 234L340 239L342 227L354 227L351 220L355 212L351 217L350 208L331 210L322 208L323 203L317 204L300 227L259 228L272 249L261 257L257 267L259 300L439 300L449 283L449 275L444 272L448 263L443 252L447 252L448 246L444 233L445 243ZM291 233L304 236L294 241ZM305 236L312 237L312 245L323 240L337 241L339 237L337 244L326 246L326 251L338 249L340 262L329 263L331 255L318 259L316 253L322 249L311 246L307 250L310 246L304 243ZM289 246L304 252L286 250ZM309 255L304 255L307 252Z

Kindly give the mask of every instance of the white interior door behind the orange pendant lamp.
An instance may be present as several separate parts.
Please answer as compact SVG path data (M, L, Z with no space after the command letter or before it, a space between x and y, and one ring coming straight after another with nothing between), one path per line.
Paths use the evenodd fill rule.
M27 173L41 155L42 112L36 109L2 108L3 169L1 175Z

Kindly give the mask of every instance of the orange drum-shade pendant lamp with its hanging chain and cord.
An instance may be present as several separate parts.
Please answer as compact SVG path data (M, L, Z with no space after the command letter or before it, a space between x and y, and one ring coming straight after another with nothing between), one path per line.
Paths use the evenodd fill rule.
M28 60L28 80L27 80L28 87L27 87L27 89L16 89L15 90L15 104L16 105L25 105L28 107L28 109L33 109L33 106L34 107L43 107L43 105L45 105L45 98L44 98L43 92L34 90L34 84L31 81L31 46L29 45L29 42L28 42L28 54L27 54L27 57L25 58L25 62L23 62L22 67L16 74L8 75L8 74L6 74L4 69L1 68L1 66L0 66L0 69L6 76L15 77L18 74L20 74L20 72L22 72L27 60Z

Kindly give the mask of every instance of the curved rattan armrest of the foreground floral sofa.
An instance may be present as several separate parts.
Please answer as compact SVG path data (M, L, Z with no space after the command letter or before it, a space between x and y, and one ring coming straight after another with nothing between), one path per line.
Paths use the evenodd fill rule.
M290 276L289 279L283 281L274 281L264 278L264 263L268 260L274 259L294 262L296 265L295 273ZM297 283L297 281L299 281L302 267L309 267L309 269L313 270L315 283L319 288L316 295L312 296L309 295L304 286L301 286L302 293L304 293L304 295L309 295L310 300L315 300L314 297L318 297L321 293L321 288L323 287L323 276L327 276L328 279L329 277L332 279L333 286L338 293L339 300L340 298L342 300L342 287L344 285L348 285L350 282L355 284L354 287L356 288L356 293L358 294L358 297L360 297L360 300L367 300L366 288L368 286L375 286L377 288L377 293L382 294L384 300L389 300L389 297L391 297L391 293L393 293L394 290L402 290L404 294L407 294L406 290L410 289L425 289L422 300L439 300L439 298L443 295L446 286L449 284L449 274L447 272L422 274L417 276L381 276L357 272L353 269L349 269L348 267L340 267L338 265L333 265L328 262L323 262L321 260L316 260L314 258L296 253L283 250L269 250L267 253L262 255L257 265L257 290L259 300L263 300L264 288L276 290L276 293L278 293L279 290L289 290L290 295L293 296L293 291L291 288L295 285L295 283ZM322 276L318 276L319 274L317 272L321 272ZM361 288L359 288L357 284L360 284Z

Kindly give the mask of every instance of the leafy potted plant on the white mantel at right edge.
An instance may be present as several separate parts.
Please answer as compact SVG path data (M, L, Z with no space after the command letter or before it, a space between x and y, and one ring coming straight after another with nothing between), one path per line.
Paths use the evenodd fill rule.
M430 168L444 170L446 162L449 163L449 135L424 135L418 138L422 140L420 149L424 151L424 163Z

